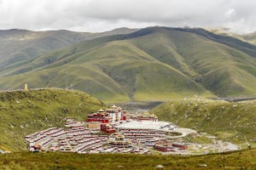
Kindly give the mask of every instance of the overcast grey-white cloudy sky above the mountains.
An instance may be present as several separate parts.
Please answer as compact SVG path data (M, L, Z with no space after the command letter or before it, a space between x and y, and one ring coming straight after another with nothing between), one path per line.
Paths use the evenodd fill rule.
M0 30L108 31L146 26L256 31L255 0L0 0Z

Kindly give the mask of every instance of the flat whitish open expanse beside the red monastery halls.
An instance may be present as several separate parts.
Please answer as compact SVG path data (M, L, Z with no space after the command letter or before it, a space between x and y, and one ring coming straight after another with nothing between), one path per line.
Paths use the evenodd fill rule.
M164 127L166 125L172 124L172 122L152 122L152 121L131 121L131 122L123 122L119 124L118 126L115 126L116 128L127 128L127 129L155 129L158 130L160 127Z

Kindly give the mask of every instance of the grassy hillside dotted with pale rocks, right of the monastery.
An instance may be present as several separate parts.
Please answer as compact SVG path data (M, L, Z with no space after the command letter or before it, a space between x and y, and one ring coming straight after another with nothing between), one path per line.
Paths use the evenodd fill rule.
M255 100L232 103L210 99L181 99L159 105L151 112L159 116L160 120L206 132L245 147L248 142L255 147L255 104Z

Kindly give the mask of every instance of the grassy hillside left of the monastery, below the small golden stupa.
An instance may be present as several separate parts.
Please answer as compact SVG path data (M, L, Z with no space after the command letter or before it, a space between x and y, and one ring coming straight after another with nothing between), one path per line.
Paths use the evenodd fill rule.
M0 145L26 150L25 136L48 127L61 127L65 117L84 120L102 102L79 91L38 89L0 92Z

